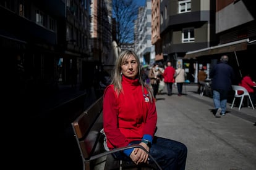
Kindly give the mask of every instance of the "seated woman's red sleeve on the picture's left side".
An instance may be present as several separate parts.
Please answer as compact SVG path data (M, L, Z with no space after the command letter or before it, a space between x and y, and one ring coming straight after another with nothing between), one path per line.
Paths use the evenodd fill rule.
M109 148L119 148L129 145L126 137L117 128L118 102L114 88L106 87L103 95L103 127Z

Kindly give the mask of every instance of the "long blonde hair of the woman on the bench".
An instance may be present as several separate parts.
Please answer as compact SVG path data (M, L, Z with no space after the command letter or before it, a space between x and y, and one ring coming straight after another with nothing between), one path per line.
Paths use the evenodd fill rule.
M119 57L116 60L116 64L113 70L113 75L112 75L112 82L111 84L114 85L114 90L116 91L117 95L119 95L122 92L122 74L121 74L121 65L124 63L127 59L129 59L130 56L134 56L136 62L138 63L138 75L137 78L139 78L139 83L142 85L142 92L144 94L144 87L146 87L148 94L150 95L150 101L152 102L152 92L151 89L145 85L143 79L142 79L142 67L140 66L140 59L139 57L135 54L134 51L131 50L126 50L122 51Z

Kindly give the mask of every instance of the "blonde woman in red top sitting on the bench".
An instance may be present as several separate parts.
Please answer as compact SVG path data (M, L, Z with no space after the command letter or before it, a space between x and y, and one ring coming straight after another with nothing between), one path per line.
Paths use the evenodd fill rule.
M144 83L139 57L123 51L116 60L112 82L103 94L103 128L109 150L142 145L163 169L185 169L187 147L155 136L157 111L150 87ZM135 164L153 163L141 148L113 153Z

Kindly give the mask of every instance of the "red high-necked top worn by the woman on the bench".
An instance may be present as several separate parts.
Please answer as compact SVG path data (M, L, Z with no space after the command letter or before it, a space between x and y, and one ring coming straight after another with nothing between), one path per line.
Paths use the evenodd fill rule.
M103 127L109 149L127 146L144 134L153 138L156 128L155 102L145 101L139 79L122 76L122 89L117 97L111 84L103 96ZM144 94L147 96L146 89Z

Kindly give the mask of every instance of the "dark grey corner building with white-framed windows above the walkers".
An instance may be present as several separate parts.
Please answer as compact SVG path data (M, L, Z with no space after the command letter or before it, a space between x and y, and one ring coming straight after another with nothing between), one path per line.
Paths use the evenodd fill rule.
M160 36L164 61L171 60L185 68L187 79L194 82L192 60L184 60L187 51L215 45L215 1L161 0Z

